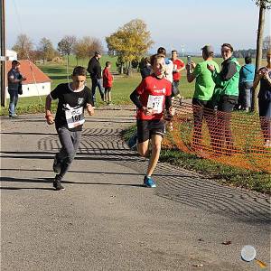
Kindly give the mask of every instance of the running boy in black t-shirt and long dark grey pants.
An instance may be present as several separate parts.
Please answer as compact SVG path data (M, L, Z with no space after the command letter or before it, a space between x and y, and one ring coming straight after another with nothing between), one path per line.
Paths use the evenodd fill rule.
M55 123L57 133L61 141L61 150L54 157L53 171L56 176L53 187L63 190L61 180L68 172L75 154L79 148L79 140L82 126L85 122L84 108L90 116L94 114L93 100L90 89L85 86L87 70L83 67L75 67L72 72L72 82L58 85L47 96L45 102L45 118L49 125ZM51 114L51 100L59 99L55 119Z

